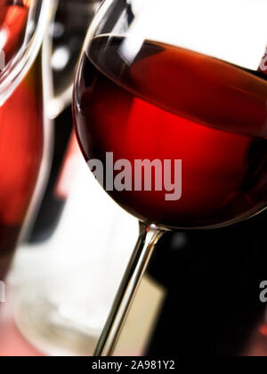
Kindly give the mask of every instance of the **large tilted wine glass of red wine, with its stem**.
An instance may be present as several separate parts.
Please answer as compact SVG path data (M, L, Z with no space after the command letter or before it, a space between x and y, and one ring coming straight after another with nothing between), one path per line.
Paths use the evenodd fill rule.
M106 0L88 30L74 89L78 142L101 186L141 223L95 355L113 353L166 231L215 229L266 208L266 8Z

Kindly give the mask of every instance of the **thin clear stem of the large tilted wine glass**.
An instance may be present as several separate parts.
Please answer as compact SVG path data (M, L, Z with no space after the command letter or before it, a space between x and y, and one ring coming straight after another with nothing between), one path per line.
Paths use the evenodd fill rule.
M111 356L113 354L135 293L150 262L150 256L164 233L165 231L157 227L140 223L139 239L117 291L117 296L96 346L94 356Z

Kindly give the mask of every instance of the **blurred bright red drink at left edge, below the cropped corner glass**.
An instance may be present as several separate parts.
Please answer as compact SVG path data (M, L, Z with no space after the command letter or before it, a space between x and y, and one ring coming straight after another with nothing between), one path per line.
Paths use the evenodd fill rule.
M0 107L0 280L12 260L43 154L40 61Z

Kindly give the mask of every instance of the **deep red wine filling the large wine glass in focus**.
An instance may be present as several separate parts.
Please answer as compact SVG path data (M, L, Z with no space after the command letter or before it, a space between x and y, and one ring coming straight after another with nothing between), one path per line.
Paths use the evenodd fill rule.
M169 227L228 223L265 207L266 76L151 41L129 67L122 41L95 37L83 56L74 93L78 141L86 160L104 166L106 152L133 165L182 159L182 198L166 201L156 189L110 196Z

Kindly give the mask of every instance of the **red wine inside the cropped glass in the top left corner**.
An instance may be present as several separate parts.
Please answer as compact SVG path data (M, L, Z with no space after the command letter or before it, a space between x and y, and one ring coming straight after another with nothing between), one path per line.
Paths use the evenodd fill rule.
M5 63L19 51L28 20L31 0L0 0L0 47Z

